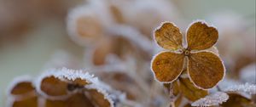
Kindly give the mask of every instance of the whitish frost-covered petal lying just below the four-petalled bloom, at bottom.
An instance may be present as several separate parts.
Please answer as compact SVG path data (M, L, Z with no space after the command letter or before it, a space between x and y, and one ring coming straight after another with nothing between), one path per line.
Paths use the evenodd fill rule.
M196 100L192 106L213 106L222 104L223 102L226 102L229 99L229 95L227 93L223 92L217 92L210 95L207 95L207 97Z

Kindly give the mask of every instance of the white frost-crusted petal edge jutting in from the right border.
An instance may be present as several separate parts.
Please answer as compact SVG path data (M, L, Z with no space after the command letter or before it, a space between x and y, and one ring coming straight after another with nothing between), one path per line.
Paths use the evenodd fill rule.
M235 85L235 86L227 87L226 89L224 89L224 91L228 91L228 92L241 91L245 93L255 94L256 85L250 84L250 83Z

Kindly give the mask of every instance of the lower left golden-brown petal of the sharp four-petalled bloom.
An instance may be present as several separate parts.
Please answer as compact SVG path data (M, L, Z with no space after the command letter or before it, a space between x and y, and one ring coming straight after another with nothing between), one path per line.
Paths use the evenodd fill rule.
M172 82L183 71L184 56L180 53L163 52L152 59L151 68L160 82Z

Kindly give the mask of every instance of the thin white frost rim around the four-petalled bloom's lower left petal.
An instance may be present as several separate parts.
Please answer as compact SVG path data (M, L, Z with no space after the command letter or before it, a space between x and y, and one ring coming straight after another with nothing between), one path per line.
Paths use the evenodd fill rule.
M160 53L176 53L176 52L172 52L172 51L161 51ZM160 82L160 81L156 78L156 76L155 76L155 74L154 74L154 70L153 70L153 61L154 61L154 59L156 58L156 56L158 56L160 53L154 54L154 56L153 56L153 58L151 59L151 62L150 62L150 70L151 70L151 72L153 73L154 80L155 80L156 82ZM184 60L185 60L185 59L184 59ZM181 72L177 75L177 77L176 77L175 79L173 79L171 82L160 82L160 83L172 83L172 82L174 82L175 80L177 80L178 76L180 76L180 75L182 74L182 72L183 72L183 70L181 70Z

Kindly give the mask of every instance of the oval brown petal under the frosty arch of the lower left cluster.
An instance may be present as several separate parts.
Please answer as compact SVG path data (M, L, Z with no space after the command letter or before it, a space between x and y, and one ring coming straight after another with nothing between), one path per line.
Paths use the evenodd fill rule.
M45 77L40 89L50 96L67 95L67 82L63 82L55 76Z

